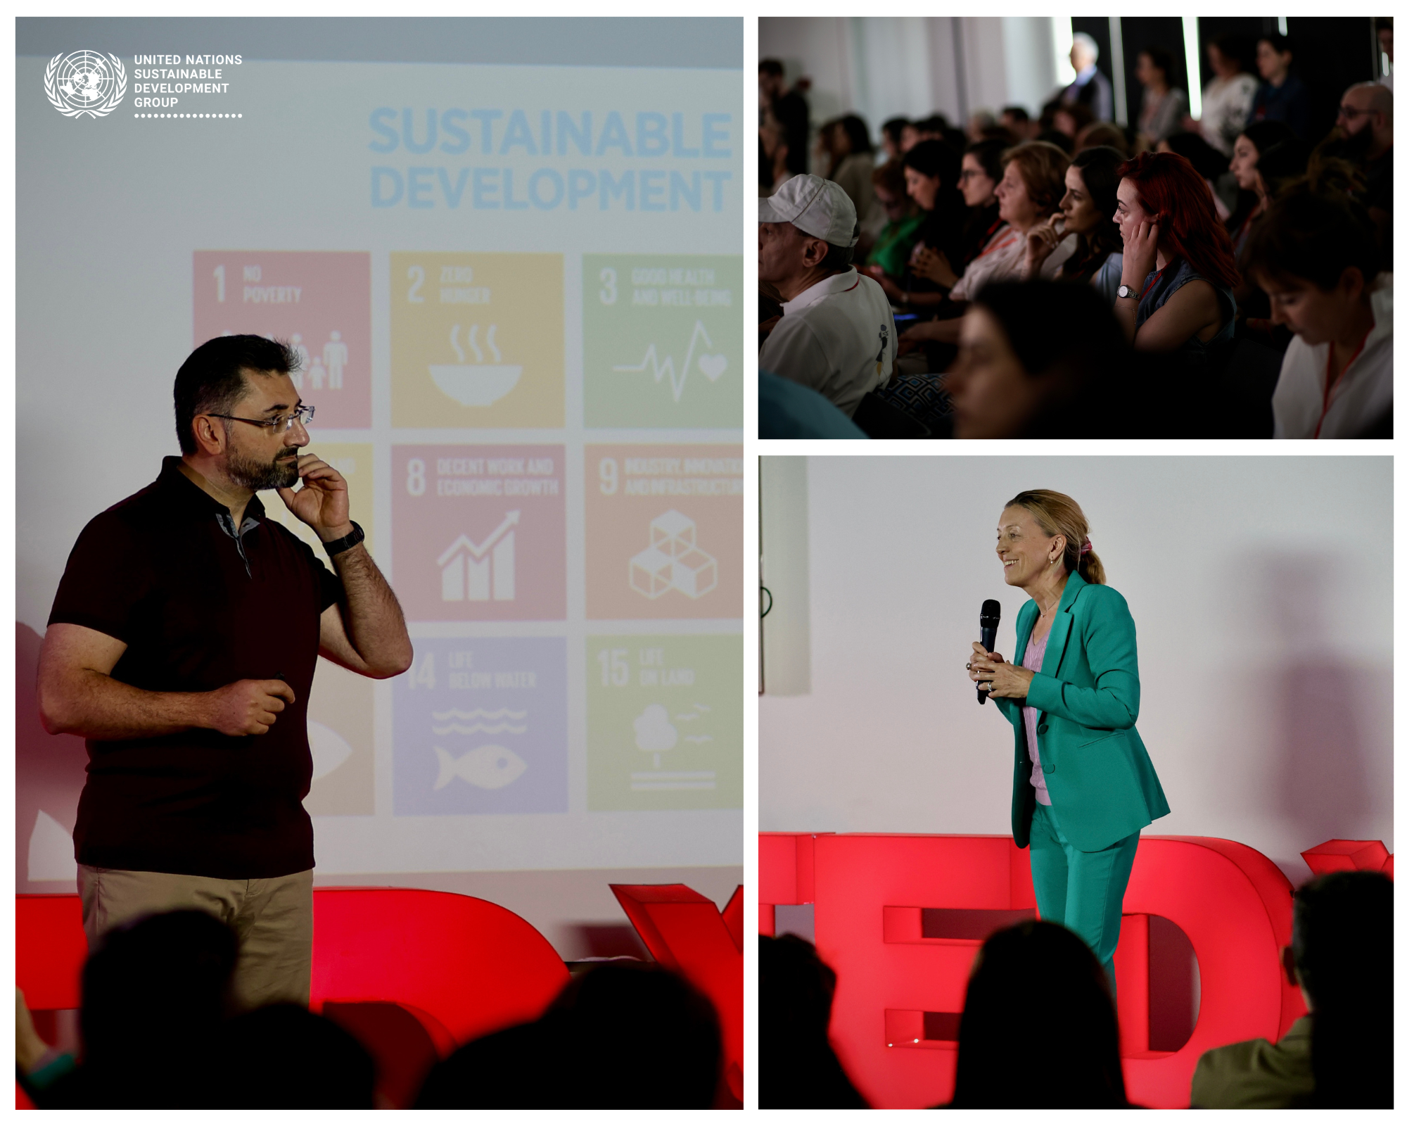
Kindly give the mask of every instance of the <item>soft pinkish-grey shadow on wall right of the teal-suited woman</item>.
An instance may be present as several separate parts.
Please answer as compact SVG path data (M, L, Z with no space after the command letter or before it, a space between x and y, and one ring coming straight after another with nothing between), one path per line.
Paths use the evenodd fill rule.
M1377 691L1392 700L1392 669L1369 670L1335 654L1325 605L1332 569L1323 556L1279 556L1263 571L1268 632L1279 654L1271 683L1282 756L1266 794L1272 812L1304 847L1370 829L1382 812L1375 759L1392 756L1390 749L1379 754L1368 746L1365 726L1372 725L1359 715L1361 701ZM1386 783L1390 804L1390 771Z

